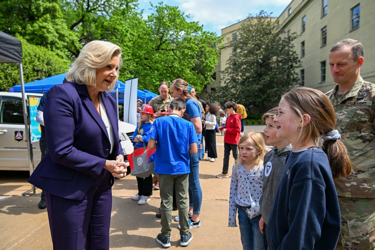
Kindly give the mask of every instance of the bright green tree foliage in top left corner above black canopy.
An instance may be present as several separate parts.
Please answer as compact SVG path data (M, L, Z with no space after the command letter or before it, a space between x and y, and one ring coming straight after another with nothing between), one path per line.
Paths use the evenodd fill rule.
M81 46L76 33L66 25L56 0L1 1L0 9L0 30L11 36L21 35L60 57L69 57L72 48Z

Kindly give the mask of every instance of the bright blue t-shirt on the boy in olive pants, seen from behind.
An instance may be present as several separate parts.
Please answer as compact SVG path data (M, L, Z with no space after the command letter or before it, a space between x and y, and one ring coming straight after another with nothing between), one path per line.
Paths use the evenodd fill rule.
M191 122L175 116L157 118L148 136L156 143L155 168L157 174L190 173L189 145L198 142Z

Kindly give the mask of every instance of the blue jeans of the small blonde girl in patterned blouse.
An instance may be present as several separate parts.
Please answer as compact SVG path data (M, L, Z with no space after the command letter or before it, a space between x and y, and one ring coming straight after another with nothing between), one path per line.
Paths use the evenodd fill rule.
M246 208L237 205L238 224L240 226L241 242L243 250L264 250L263 234L259 229L261 215L249 219Z

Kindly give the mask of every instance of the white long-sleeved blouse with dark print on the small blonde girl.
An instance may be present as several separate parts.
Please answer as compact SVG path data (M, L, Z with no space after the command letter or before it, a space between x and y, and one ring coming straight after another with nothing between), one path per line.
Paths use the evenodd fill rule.
M263 165L260 169L254 169L249 173L242 165L233 166L229 190L229 227L237 227L237 204L242 207L251 207L251 211L248 212L251 218L261 214L259 200L262 195L263 172Z

